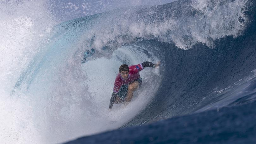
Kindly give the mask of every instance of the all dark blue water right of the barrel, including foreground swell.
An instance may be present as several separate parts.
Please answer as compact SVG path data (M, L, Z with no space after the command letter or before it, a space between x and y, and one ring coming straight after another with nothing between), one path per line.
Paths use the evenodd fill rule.
M181 2L187 6L178 1L159 9L168 11ZM155 97L120 129L66 144L256 143L255 6L247 1L248 23L239 36L215 39L213 47L196 43L183 50L155 39L128 43L148 47L160 58L162 81Z

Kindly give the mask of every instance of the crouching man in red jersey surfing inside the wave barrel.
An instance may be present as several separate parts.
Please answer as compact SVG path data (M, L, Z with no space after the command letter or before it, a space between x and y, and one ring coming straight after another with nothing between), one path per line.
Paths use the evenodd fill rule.
M133 92L137 90L142 83L139 71L146 67L156 68L160 65L160 62L154 64L151 62L144 62L137 65L128 66L122 64L119 67L119 73L116 76L114 83L114 90L110 99L109 109L112 109L113 104L120 104L131 101Z

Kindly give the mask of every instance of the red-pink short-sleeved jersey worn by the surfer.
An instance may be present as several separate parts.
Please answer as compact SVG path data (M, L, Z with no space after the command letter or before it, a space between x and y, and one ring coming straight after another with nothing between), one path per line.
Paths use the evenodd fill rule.
M143 69L143 66L141 64L129 66L129 75L127 80L123 79L121 74L118 73L114 83L114 92L118 93L122 85L131 83L132 81L135 81L138 78L140 78L139 71L141 71L142 69Z

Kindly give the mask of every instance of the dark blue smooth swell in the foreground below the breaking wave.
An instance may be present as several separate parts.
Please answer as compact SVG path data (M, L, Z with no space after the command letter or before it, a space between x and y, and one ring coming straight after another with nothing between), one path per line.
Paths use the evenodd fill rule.
M255 102L79 138L82 143L255 143Z

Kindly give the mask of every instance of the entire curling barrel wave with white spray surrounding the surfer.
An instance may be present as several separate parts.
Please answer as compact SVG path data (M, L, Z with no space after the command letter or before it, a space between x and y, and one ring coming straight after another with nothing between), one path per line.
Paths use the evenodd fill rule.
M45 19L25 16L22 9L35 3ZM3 15L13 16L5 15L5 36L14 38L4 37L9 43L1 45L0 111L6 117L0 119L5 125L1 142L63 142L255 99L253 1L180 0L58 25L47 19L44 5L19 3L22 15L3 9ZM48 25L41 23L46 20ZM17 26L22 37L9 33ZM143 84L133 101L109 111L119 66L144 61L161 61L161 66L141 71Z

